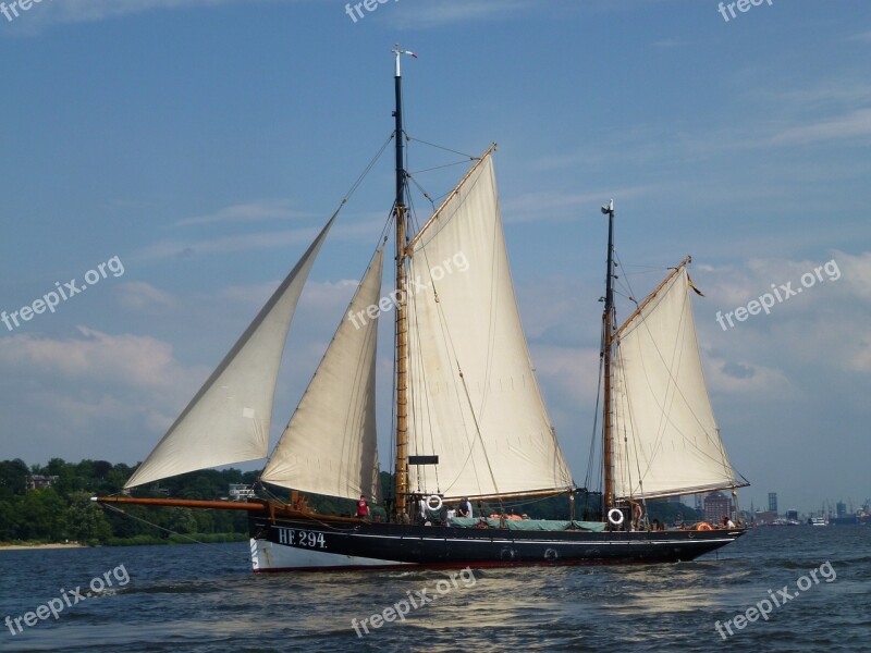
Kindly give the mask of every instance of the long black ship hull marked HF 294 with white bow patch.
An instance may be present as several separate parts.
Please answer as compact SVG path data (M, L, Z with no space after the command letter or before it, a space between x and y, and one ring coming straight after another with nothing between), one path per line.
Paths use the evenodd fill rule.
M249 516L255 571L527 565L650 564L691 560L744 530L519 531ZM260 553L257 559L258 551ZM266 553L265 553L266 552Z

